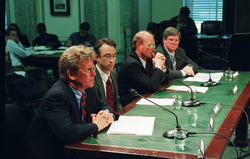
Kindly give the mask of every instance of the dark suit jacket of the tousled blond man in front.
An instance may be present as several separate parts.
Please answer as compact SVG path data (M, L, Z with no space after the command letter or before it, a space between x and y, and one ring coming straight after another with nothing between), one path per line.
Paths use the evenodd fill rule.
M98 127L91 123L91 113L109 109L109 105L97 95L94 87L85 90L87 93L87 122L82 124L80 110L74 92L68 82L58 80L45 94L35 112L30 129L30 145L36 159L72 158L64 152L64 145L77 140L84 140Z

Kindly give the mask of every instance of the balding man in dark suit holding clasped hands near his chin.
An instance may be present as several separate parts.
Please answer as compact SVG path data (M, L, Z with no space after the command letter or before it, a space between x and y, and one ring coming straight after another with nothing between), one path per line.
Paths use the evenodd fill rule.
M132 50L119 71L118 91L123 107L137 98L130 95L131 88L139 94L156 92L166 78L165 57L161 53L154 57L155 40L151 33L136 33L132 41Z

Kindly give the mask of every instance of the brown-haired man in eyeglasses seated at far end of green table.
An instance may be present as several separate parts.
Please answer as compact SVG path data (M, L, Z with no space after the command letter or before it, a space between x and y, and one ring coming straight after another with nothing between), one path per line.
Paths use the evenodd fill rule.
M181 34L176 28L168 27L163 32L163 43L154 51L166 57L165 64L172 78L194 76L198 72L198 65L187 57L184 49L179 47L180 38Z

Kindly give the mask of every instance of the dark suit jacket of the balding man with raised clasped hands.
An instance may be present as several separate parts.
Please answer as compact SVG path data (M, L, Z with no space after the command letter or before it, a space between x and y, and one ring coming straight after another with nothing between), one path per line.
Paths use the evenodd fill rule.
M146 60L149 76L144 69L138 55L135 52L128 54L119 71L118 90L122 106L126 106L138 98L130 95L129 90L135 89L139 94L156 92L166 74L160 69L153 67L152 59ZM167 81L167 80L166 80Z

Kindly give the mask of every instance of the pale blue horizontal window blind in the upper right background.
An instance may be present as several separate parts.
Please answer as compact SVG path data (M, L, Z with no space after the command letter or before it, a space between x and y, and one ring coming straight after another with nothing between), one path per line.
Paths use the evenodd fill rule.
M190 9L198 33L201 32L203 21L222 21L223 0L185 0L185 6Z

